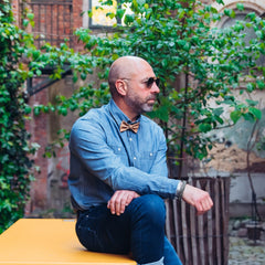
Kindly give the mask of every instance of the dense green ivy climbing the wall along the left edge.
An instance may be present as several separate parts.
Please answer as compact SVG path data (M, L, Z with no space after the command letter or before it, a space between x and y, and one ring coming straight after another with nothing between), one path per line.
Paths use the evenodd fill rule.
M22 56L33 39L13 23L9 1L0 3L0 233L24 214L38 145L30 145Z

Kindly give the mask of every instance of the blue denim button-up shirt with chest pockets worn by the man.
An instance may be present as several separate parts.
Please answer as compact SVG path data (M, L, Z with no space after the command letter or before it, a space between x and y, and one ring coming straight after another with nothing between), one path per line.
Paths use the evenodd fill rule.
M120 132L128 117L110 102L78 118L70 138L68 187L76 210L107 203L116 190L174 198L178 180L168 178L162 129L140 116L137 134Z

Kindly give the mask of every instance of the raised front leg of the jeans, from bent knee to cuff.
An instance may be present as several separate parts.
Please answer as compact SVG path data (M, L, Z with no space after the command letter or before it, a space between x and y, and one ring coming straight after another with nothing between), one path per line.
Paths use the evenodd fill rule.
M163 200L147 194L136 198L130 204L132 256L138 264L158 264L155 262L163 256L165 244Z

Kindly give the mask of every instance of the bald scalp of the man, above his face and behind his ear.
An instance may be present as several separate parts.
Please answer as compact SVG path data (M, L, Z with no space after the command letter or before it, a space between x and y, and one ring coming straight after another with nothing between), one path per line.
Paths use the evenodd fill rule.
M149 65L147 61L137 56L123 56L117 59L110 66L108 75L108 84L112 95L116 95L117 91L115 83L120 78L132 78L134 75L144 65Z

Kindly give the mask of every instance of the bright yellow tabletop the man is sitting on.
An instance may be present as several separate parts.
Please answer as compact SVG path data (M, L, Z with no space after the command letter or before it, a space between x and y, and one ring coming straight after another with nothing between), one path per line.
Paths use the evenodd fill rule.
M75 235L75 220L21 219L0 235L4 265L128 265L127 256L86 251Z

